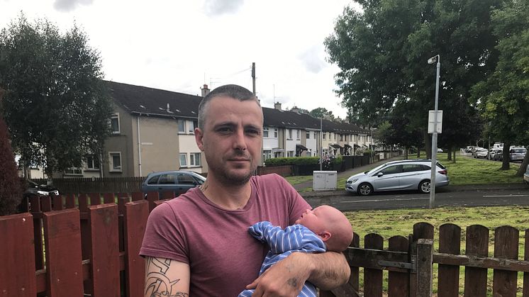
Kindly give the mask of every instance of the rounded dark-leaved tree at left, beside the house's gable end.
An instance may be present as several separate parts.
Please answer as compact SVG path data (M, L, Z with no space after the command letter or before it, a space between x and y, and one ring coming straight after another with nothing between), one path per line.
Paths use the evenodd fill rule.
M1 30L1 113L24 167L43 166L51 177L99 155L112 110L102 78L99 53L75 25L62 34L21 14Z

